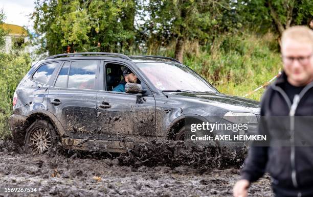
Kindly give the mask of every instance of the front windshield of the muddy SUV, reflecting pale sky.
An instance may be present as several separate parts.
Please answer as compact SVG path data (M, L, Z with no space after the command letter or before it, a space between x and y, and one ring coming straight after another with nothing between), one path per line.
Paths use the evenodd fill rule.
M212 85L181 64L146 62L137 63L137 66L162 91L216 92Z

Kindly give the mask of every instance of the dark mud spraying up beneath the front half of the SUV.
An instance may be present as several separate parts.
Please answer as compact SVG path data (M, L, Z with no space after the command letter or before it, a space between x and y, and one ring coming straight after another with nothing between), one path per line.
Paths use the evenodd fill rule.
M203 173L212 168L239 168L246 154L247 147L231 150L227 147L195 146L185 141L153 140L122 153L118 160L120 165L133 167L164 165L174 168L184 165Z

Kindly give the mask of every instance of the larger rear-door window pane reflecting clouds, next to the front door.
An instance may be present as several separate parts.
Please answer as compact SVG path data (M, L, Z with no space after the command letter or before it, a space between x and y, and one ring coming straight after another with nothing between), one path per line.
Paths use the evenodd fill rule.
M94 89L98 61L72 62L69 74L69 88Z

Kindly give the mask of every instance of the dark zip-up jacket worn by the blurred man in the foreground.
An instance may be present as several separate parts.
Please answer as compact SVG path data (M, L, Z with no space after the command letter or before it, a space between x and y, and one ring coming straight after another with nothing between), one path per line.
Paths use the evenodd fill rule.
M313 82L306 85L292 102L284 90L286 80L283 72L262 97L260 115L263 122L259 125L258 134L267 135L269 144L250 147L241 179L254 182L268 171L273 178L274 191L313 196L313 147L307 145L313 145L313 119L308 117L313 117ZM293 113L294 134L290 123ZM305 122L303 117L310 122ZM287 139L285 141L289 144L271 143L276 138Z

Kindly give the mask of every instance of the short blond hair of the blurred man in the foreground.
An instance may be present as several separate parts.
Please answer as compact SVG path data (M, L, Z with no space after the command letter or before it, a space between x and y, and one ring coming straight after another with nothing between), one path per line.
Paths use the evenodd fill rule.
M306 26L293 26L286 29L281 37L281 46L287 39L301 43L310 43L313 47L313 31Z

